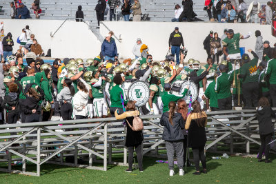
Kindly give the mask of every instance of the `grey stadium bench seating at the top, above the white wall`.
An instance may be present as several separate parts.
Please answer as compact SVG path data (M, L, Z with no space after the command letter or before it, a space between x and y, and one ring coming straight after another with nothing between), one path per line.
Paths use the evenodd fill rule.
M23 0L23 3L30 9L32 0ZM194 11L199 19L204 21L208 20L206 11L204 8L204 0L194 0ZM236 0L237 2L237 0ZM250 0L246 0L247 5L250 4ZM266 4L266 0L259 0L261 4ZM174 8L178 3L181 5L181 0L140 0L141 10L143 14L148 14L150 21L171 21L174 17ZM84 19L91 21L92 25L97 25L97 17L95 12L95 6L97 0L41 0L41 19L56 19L63 20L66 18L75 18L75 12L77 7L81 5L83 7ZM3 6L0 12L0 18L10 18L10 0L1 0L0 6ZM34 19L32 11L31 17ZM119 10L120 12L120 10ZM106 16L107 17L107 16ZM119 17L122 19L122 17Z

